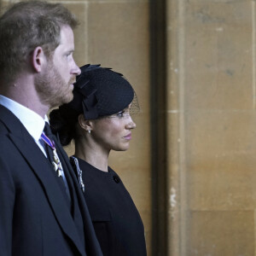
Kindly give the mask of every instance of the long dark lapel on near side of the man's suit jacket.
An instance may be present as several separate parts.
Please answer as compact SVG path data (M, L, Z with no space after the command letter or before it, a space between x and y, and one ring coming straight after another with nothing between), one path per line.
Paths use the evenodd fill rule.
M84 247L80 242L78 231L73 223L73 218L67 207L61 188L56 183L54 172L50 170L48 160L44 157L43 152L38 148L38 145L26 131L25 127L20 123L20 120L3 106L0 106L0 119L10 131L8 135L10 140L19 149L20 154L24 156L28 164L32 167L32 171L42 182L49 199L49 204L55 212L55 217L61 225L61 229L70 237L81 255L84 255Z

